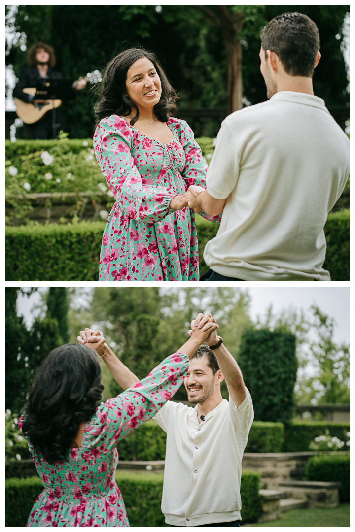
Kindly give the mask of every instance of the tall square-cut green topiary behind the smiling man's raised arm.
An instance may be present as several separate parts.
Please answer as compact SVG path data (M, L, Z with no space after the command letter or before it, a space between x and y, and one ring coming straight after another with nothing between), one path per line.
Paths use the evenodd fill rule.
M256 421L292 420L298 368L295 340L281 328L243 332L238 363L253 398Z

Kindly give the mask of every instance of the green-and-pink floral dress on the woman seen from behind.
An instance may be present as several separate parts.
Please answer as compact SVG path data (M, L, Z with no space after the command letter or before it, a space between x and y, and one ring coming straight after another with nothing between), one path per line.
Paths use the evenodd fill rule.
M125 504L114 479L116 446L154 417L177 392L187 370L187 355L175 353L144 380L101 403L86 423L81 447L70 449L68 460L48 463L24 434L44 485L27 526L129 527ZM22 423L23 416L20 427Z

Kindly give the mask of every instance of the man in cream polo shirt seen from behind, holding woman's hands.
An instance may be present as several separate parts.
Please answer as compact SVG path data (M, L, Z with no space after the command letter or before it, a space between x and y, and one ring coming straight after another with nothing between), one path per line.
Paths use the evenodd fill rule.
M222 213L203 257L203 281L330 281L324 226L349 176L349 139L313 94L319 34L286 13L261 32L267 102L230 114L217 137L207 189L189 206Z

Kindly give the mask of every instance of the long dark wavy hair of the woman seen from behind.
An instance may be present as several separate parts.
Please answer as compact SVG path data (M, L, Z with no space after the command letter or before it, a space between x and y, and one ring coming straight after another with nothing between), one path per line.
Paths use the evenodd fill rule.
M23 433L48 462L65 459L80 423L102 400L96 352L81 344L57 347L45 359L24 406Z

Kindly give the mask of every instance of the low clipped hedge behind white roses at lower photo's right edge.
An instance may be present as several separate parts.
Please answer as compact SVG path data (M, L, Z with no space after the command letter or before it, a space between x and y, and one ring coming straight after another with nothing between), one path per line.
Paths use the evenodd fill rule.
M296 453L309 451L309 444L326 429L331 436L336 436L346 443L346 433L350 431L350 423L336 423L334 421L293 421L285 426L285 436L282 451Z

